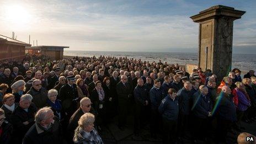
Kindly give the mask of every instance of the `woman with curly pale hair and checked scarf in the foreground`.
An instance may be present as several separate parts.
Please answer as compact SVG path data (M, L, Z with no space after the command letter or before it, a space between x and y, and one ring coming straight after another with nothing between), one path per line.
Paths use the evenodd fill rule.
M94 129L95 117L91 113L86 113L81 116L78 121L78 127L74 131L74 143L79 144L100 144L103 143L102 138L99 136L97 130Z

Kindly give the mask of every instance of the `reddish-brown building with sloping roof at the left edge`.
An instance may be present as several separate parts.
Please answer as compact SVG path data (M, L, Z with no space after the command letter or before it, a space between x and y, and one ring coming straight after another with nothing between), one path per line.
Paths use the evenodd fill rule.
M25 57L26 46L31 45L4 35L0 35L0 61L23 60Z

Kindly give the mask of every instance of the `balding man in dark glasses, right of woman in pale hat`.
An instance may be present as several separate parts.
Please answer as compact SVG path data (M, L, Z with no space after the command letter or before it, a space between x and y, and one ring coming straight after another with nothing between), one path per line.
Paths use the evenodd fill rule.
M38 109L44 107L47 102L47 90L42 87L40 79L35 79L32 83L32 87L27 92L27 94L32 95L33 103L35 103Z

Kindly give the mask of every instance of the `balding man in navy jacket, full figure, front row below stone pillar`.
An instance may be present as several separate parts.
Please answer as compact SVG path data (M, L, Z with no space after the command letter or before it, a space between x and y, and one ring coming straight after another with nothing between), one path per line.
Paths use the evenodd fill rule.
M193 115L194 115L194 138L195 140L205 140L207 135L207 125L209 124L209 116L211 116L212 102L207 97L208 88L204 85L199 87L199 92L193 95Z

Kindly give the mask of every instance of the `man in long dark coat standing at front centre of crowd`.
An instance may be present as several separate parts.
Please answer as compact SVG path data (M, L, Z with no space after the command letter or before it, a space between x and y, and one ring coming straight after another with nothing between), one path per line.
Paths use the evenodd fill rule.
M119 129L123 130L126 124L127 111L129 107L129 99L131 99L131 84L127 83L127 76L122 75L121 81L116 85L116 93L118 93L119 105Z

